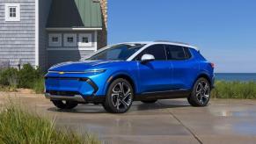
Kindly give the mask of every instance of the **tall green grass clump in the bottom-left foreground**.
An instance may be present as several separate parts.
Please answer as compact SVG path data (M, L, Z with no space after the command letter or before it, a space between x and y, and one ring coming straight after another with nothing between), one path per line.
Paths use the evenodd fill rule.
M68 129L58 131L54 121L25 112L17 104L10 104L0 111L0 143L96 144L99 140L90 134L81 136Z

